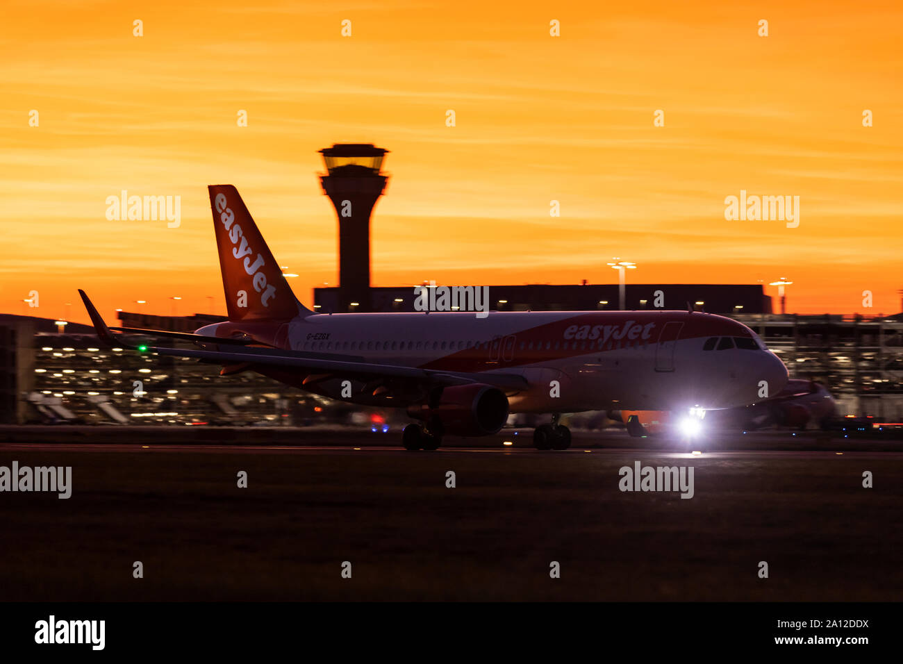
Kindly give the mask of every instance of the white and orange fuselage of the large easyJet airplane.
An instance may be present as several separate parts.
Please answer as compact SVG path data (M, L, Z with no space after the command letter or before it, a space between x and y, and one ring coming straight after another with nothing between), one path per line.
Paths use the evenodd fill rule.
M247 334L336 360L522 376L528 388L507 390L516 413L727 408L760 400L763 385L774 394L787 382L783 363L747 326L700 312L321 313L289 323L215 323L197 333ZM713 337L749 341L704 350ZM329 375L255 370L358 404L405 407L422 397L397 384L380 390L351 380L348 389L348 379Z

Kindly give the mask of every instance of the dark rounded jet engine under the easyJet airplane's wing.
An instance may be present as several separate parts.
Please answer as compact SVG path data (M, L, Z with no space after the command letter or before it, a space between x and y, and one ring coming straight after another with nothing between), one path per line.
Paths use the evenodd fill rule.
M436 388L428 403L408 407L407 414L424 420L438 435L492 435L507 420L508 402L505 393L491 385L456 385Z

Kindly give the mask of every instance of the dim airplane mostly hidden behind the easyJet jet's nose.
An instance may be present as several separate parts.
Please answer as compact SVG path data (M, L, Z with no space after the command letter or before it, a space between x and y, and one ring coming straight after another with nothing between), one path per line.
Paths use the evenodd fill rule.
M702 429L702 424L692 418L675 416L667 410L615 410L610 416L622 421L628 434L635 437L675 432L693 437ZM803 431L810 423L826 428L836 416L837 402L824 385L815 380L790 379L773 397L759 399L749 406L706 413L705 429L753 431L767 426L787 426Z

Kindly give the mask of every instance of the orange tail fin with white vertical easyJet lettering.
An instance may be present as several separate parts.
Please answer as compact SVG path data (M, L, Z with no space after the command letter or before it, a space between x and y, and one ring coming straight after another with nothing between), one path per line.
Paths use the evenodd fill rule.
M231 184L211 184L208 189L228 319L289 320L311 315L292 293L238 190Z

